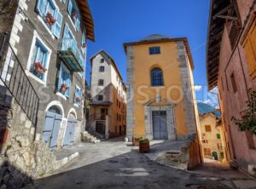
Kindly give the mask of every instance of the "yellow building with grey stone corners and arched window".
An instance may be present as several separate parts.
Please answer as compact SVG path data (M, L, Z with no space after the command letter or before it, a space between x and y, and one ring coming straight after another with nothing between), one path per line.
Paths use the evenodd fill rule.
M185 140L197 136L197 107L187 38L151 35L124 44L127 58L126 136Z

